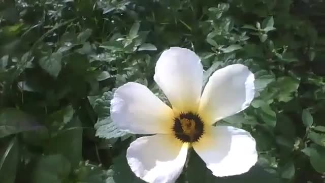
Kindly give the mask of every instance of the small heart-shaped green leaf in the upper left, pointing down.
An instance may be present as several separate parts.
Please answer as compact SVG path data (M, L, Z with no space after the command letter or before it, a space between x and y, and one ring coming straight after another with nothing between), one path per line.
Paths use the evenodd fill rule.
M55 52L49 56L44 56L41 59L39 59L39 65L49 75L56 78L61 71L61 59L62 59L62 53Z

